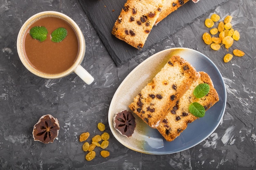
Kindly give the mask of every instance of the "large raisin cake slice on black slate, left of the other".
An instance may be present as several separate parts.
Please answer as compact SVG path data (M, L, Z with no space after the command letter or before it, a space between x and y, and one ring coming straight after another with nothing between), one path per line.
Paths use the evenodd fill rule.
M112 34L141 49L161 12L164 0L127 0Z

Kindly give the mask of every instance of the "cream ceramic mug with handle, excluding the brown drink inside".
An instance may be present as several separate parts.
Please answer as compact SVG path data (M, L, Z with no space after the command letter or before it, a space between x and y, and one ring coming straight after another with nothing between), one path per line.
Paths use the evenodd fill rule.
M56 17L56 18L61 18L70 26L74 29L78 43L79 43L79 51L76 57L76 60L74 61L74 64L68 68L66 71L63 71L61 73L57 74L48 74L48 73L43 73L41 71L38 71L34 66L32 66L29 61L27 60L27 57L25 55L25 50L24 50L24 41L25 41L25 34L28 31L29 27L31 24L36 22L37 20L40 20L41 18L45 17ZM72 20L70 17L67 15L56 12L56 11L45 11L45 12L40 12L37 13L33 16L31 16L21 27L19 33L18 33L18 38L17 38L17 51L18 55L20 57L20 60L22 64L33 74L43 77L46 79L56 79L56 78L61 78L65 77L71 73L76 73L86 84L91 84L94 81L94 78L88 71L86 71L82 66L81 62L83 61L84 55L85 55L85 39L83 36L83 33L79 26Z

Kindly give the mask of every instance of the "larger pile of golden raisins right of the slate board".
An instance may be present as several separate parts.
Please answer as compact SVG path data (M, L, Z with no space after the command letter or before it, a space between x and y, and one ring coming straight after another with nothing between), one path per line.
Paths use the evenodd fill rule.
M220 20L220 16L216 13L211 15L211 18L207 18L204 22L204 24L208 28L212 28L215 24L215 22L218 22ZM218 22L218 28L212 28L210 30L211 35L217 35L218 37L212 37L209 33L204 33L202 38L204 40L205 44L208 44L211 46L211 49L218 51L222 45L225 45L225 49L229 51L229 48L233 45L234 40L238 41L240 39L240 34L237 30L234 30L232 28L231 24L232 17L228 15L224 22L220 21ZM233 54L242 57L245 55L243 51L240 51L238 49L235 49L233 51ZM224 56L223 60L224 62L229 62L232 59L233 55L228 53Z

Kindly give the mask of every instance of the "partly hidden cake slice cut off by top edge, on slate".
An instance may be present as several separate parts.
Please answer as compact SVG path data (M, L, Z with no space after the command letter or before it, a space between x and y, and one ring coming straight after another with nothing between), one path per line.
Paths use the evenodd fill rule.
M164 5L162 7L162 11L159 14L159 17L157 18L155 24L162 21L170 13L172 13L173 11L176 11L179 7L181 7L182 5L184 5L188 1L189 0L164 0Z

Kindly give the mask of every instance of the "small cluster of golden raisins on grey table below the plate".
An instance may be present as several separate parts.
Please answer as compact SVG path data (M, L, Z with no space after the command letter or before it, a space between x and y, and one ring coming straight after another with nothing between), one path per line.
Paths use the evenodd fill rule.
M105 125L103 123L99 123L97 127L101 132L105 130ZM80 142L86 141L89 138L89 136L90 136L89 132L83 132L79 137L79 141ZM87 155L85 156L85 159L87 161L91 161L92 159L95 158L96 152L94 151L94 148L96 146L102 149L106 149L109 144L109 141L108 141L109 137L110 137L109 134L107 132L104 132L101 135L95 135L94 137L92 137L91 144L89 144L89 142L86 141L82 147L83 151L88 152ZM102 141L101 144L99 143L100 141ZM110 153L107 150L101 150L102 157L106 158L109 155Z

